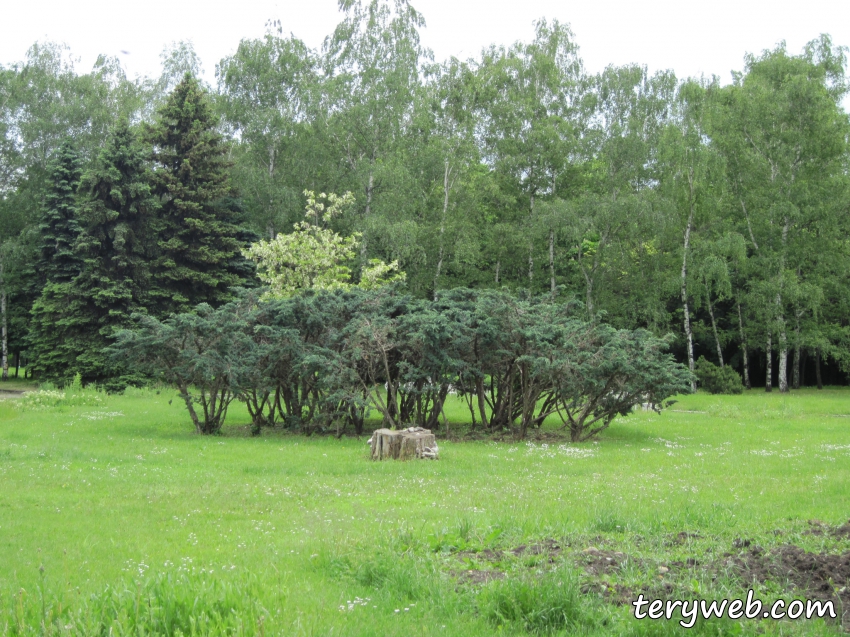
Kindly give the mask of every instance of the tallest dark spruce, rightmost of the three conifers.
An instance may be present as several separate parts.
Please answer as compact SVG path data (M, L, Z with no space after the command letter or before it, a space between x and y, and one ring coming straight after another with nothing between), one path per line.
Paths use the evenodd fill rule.
M232 205L228 148L197 80L186 74L148 129L154 191L162 207L151 312L220 305L243 283L239 215Z

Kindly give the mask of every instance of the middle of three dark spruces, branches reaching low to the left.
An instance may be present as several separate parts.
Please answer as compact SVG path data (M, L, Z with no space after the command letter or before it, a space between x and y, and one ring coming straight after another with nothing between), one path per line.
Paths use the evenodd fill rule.
M34 308L37 330L51 330L54 342L52 351L36 352L42 378L61 383L79 373L112 388L128 382L103 350L130 327L133 312L145 309L157 206L146 155L123 120L81 179L83 229L74 246L80 271L48 283Z

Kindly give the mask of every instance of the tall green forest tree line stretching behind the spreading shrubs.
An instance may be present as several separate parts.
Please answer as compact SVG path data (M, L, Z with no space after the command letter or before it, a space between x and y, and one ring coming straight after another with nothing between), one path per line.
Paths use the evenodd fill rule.
M51 312L61 310L58 324L72 331L74 316L94 316L109 326L108 340L139 307L163 318L225 303L231 285L252 280L241 248L291 233L305 191L351 192L353 205L331 225L359 236L355 276L380 259L397 262L407 292L422 299L464 287L580 301L587 319L672 332L683 362L693 368L704 355L733 365L747 385L784 391L807 369L805 380L820 382L824 361L843 380L835 375L850 365L843 48L827 36L799 54L779 45L746 56L722 85L637 64L589 73L569 27L546 20L530 42L436 62L420 43L423 26L403 0L350 3L315 50L270 23L221 60L209 87L186 78L200 75L188 45L164 55L159 78L129 79L107 58L78 73L50 44L0 67L0 300L10 355L26 352L36 369L46 360L54 350L33 332L51 334ZM183 199L168 194L166 151L171 160L178 152L168 108L189 85L208 106L210 143L218 140L209 171L221 189L204 205L222 267L206 291L187 283L203 268L169 258L186 250L171 242L185 228L175 210ZM115 244L104 229L104 210L116 207L103 204L112 178L105 155L120 155L122 143L143 175L144 187L127 192L148 198L139 205L156 222L140 229L145 245L130 250L138 259L126 260L138 271L109 279L138 289L110 291L98 253ZM62 203L57 166L69 154L79 179ZM57 279L44 261L45 225L66 204L85 226L74 232L89 239L68 250L83 262L61 266L71 279ZM123 309L109 319L96 308L68 312L62 286L81 285L109 297L101 310L120 299Z

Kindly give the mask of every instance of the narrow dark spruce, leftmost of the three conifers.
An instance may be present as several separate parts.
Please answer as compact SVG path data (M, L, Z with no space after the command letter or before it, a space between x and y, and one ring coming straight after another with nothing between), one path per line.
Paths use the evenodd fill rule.
M79 276L82 259L75 251L81 233L77 188L81 162L65 140L49 164L47 191L38 224L35 263L27 277L32 288L28 349L30 370L43 380L64 382L76 358L63 337L70 282Z

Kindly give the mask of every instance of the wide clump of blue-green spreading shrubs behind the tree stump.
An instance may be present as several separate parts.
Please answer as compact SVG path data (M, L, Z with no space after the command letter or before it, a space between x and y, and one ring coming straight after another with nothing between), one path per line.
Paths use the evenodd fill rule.
M255 433L280 420L359 434L368 409L394 428L438 429L457 392L490 431L522 438L551 416L583 441L637 403L660 409L691 380L667 340L572 318L551 301L459 289L426 302L397 286L256 294L162 322L139 317L113 357L174 385L201 433L219 431L234 397Z

